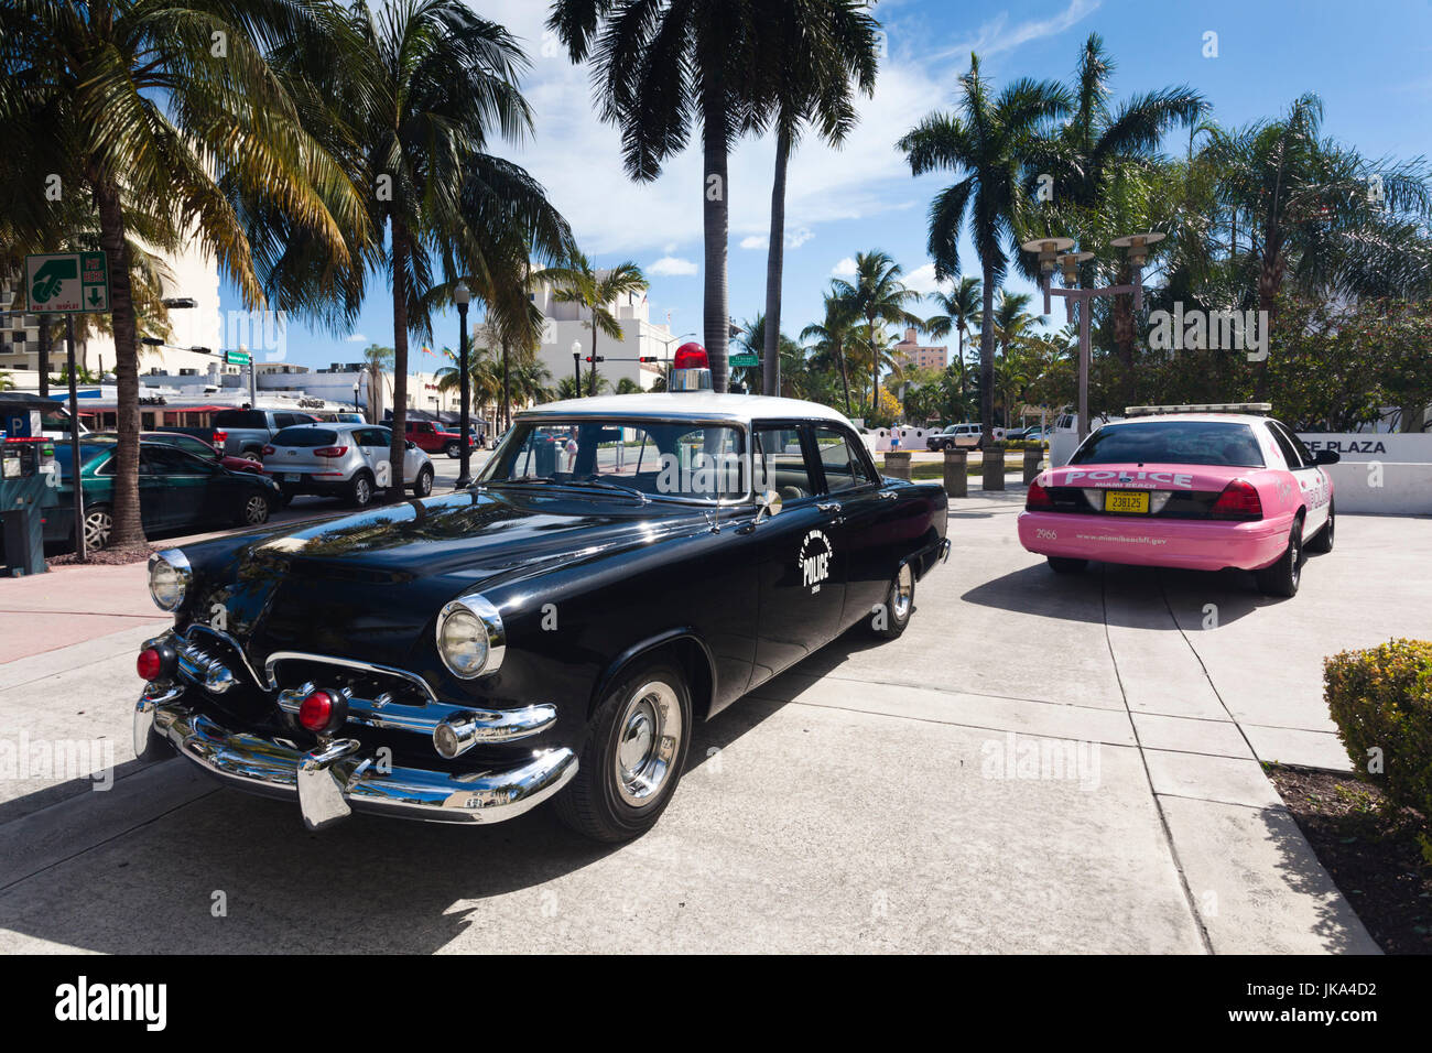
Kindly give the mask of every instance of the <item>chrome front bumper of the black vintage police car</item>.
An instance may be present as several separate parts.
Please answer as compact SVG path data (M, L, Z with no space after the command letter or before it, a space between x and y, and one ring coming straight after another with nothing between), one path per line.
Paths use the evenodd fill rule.
M168 741L221 782L265 797L298 798L309 830L354 811L428 822L501 822L541 804L577 774L570 749L534 752L510 771L450 774L388 768L357 739L312 751L281 739L235 732L183 705L183 689L146 691L135 706L135 752L158 759Z

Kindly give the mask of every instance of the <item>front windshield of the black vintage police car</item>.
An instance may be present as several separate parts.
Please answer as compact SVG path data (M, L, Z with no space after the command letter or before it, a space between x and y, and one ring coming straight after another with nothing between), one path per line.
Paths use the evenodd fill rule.
M477 481L700 503L743 500L750 489L735 424L624 418L517 421Z

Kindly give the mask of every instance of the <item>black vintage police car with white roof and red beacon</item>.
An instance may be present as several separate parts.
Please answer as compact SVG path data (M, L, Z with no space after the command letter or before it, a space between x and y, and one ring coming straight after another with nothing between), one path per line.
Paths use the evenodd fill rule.
M881 479L822 405L543 405L471 489L156 554L175 626L139 656L135 748L296 797L315 830L556 797L576 830L630 838L693 721L856 623L905 629L945 517L939 486Z

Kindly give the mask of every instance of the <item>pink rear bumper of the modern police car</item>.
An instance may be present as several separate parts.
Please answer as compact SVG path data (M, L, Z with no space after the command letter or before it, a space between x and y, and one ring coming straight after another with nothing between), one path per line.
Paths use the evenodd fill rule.
M1184 570L1259 570L1287 547L1292 519L1253 523L1020 513L1020 544L1040 556Z

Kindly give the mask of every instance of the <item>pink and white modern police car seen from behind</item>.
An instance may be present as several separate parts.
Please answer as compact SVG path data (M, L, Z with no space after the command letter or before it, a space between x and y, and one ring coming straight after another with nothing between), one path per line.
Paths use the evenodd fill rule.
M1333 547L1330 450L1312 453L1267 403L1136 405L1030 484L1020 543L1060 573L1088 560L1252 570L1293 596L1303 550Z

